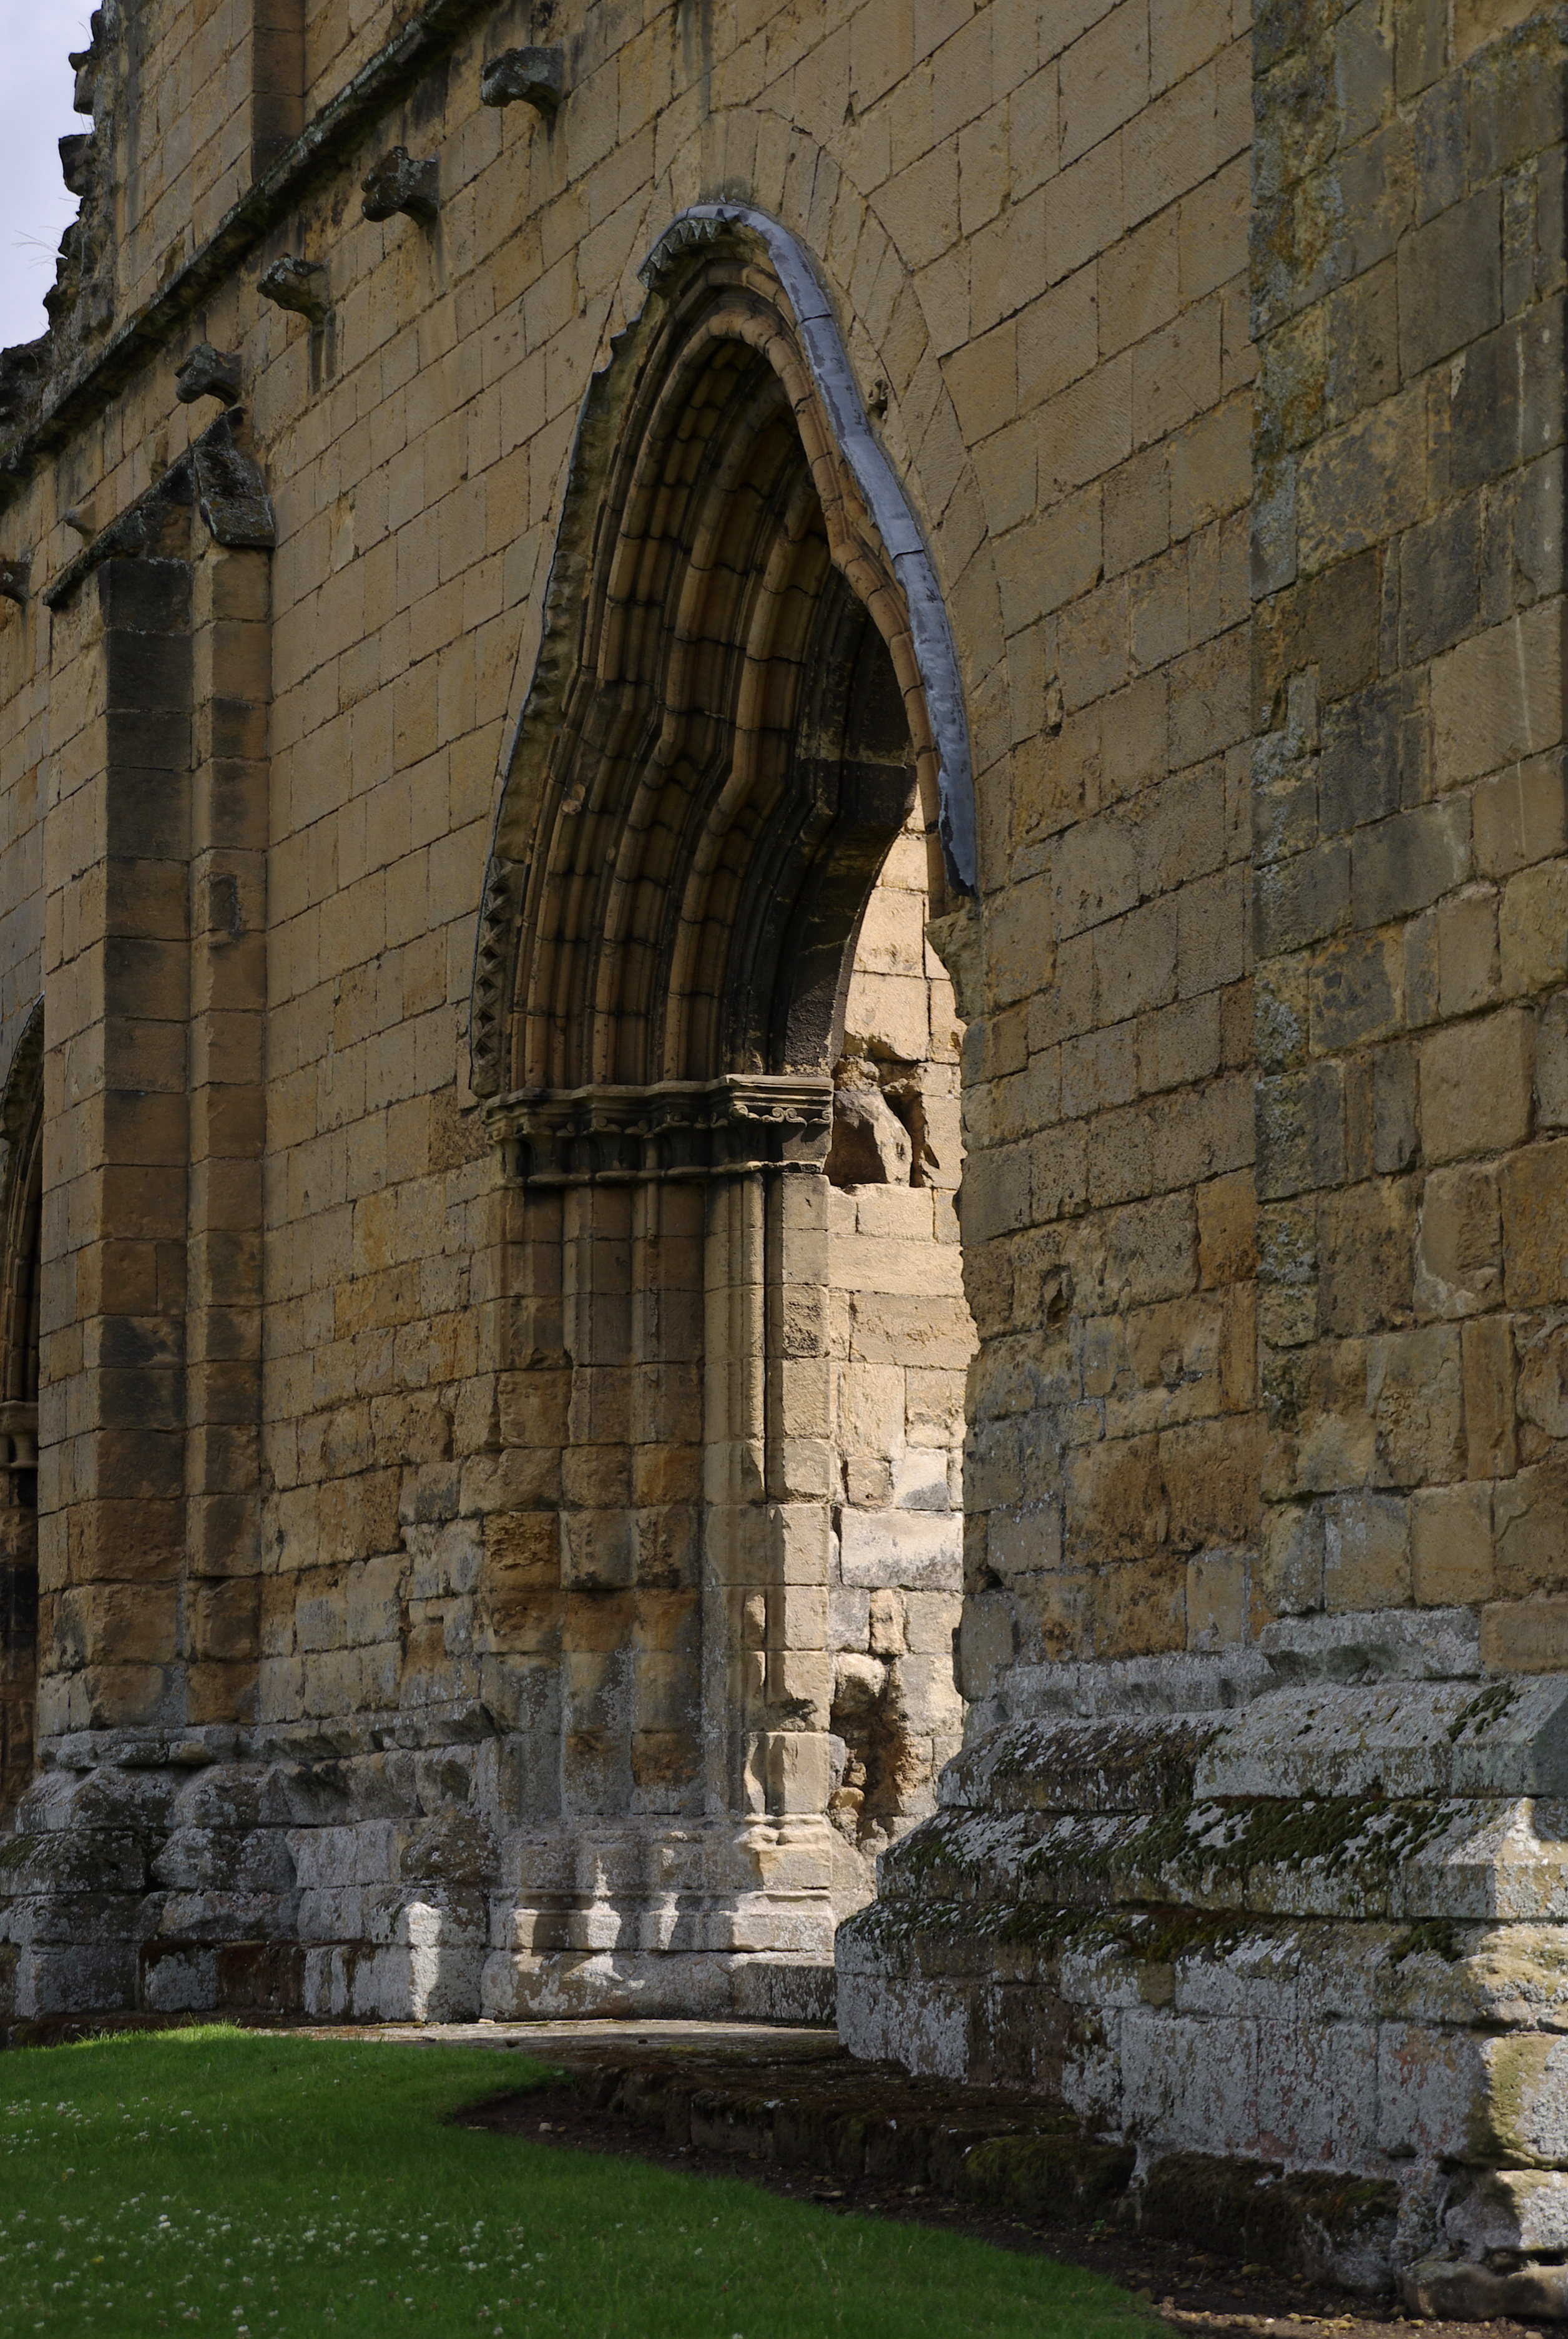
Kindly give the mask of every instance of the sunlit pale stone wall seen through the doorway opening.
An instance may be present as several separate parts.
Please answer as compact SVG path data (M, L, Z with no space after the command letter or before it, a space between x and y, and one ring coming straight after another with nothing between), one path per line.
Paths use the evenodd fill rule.
M953 1195L962 1172L953 985L924 936L924 840L894 844L861 922L828 1151L833 1443L843 1464L828 1623L831 1813L861 1862L934 1808L964 1707L955 1635L964 1581L964 1303ZM871 1106L871 1109L868 1109Z

